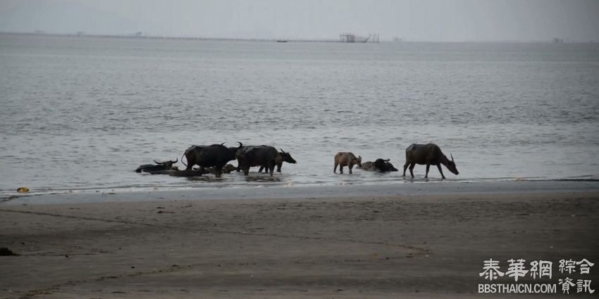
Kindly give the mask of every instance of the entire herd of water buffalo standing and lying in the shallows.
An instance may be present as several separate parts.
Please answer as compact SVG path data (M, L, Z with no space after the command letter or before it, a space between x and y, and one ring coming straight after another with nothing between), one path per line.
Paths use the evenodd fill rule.
M210 146L191 146L187 148L183 156L187 160L187 164L183 163L183 156L181 157L181 163L186 168L185 170L179 170L177 166L173 164L178 162L176 160L168 161L156 161L156 164L144 164L137 167L135 172L148 172L151 174L170 174L175 177L194 177L202 176L202 174L214 174L216 177L221 177L224 173L230 173L233 170L237 172L243 171L245 175L249 174L249 168L260 167L258 172L265 170L270 172L271 177L273 172L276 170L280 172L283 162L295 164L296 161L291 157L290 153L283 151L277 151L273 146L244 146L241 142L238 142L239 146L227 147L224 144L212 144ZM237 160L237 166L228 164L229 161ZM441 165L445 165L447 170L453 174L459 174L451 156L451 160L447 158L436 144L412 144L406 148L406 163L404 164L404 174L409 167L409 172L414 177L414 166L416 164L426 165L425 178L428 177L428 170L431 165L436 165L441 177L445 179ZM194 168L194 166L199 168ZM350 152L339 152L335 154L335 167L333 172L343 173L343 167L347 166L352 173L354 165L367 171L376 172L394 172L397 168L393 167L389 163L389 159L376 159L374 162L362 163L362 156L355 156Z

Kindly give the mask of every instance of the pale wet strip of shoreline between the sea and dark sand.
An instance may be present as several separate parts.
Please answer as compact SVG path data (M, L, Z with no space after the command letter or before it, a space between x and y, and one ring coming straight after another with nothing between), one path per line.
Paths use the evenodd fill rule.
M400 182L390 184L340 184L297 186L244 186L194 189L154 189L152 191L89 191L8 196L3 205L47 205L66 203L109 203L161 200L235 200L235 199L316 199L342 197L389 197L414 195L501 194L548 192L597 192L599 181L495 181L495 182Z

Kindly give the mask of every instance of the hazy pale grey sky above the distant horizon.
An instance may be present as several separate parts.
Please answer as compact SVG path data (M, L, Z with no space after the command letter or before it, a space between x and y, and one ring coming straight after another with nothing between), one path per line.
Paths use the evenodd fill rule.
M599 41L599 0L0 0L1 32Z

